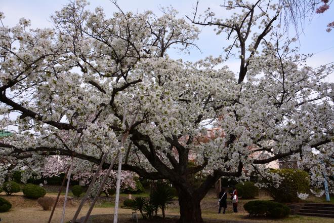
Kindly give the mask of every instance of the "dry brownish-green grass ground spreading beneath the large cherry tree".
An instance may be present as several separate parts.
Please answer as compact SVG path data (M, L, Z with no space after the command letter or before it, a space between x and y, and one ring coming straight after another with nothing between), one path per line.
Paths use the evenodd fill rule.
M57 196L56 192L48 192L46 196ZM132 195L132 198L137 196L144 196L148 197L148 193L140 194L140 195ZM7 196L5 193L1 193L0 197L3 197L9 200L13 207L9 212L0 213L0 218L3 219L1 223L12 223L12 222L25 222L25 223L35 223L35 222L47 222L49 219L51 211L43 211L41 207L38 205L36 200L31 200L23 197L22 192L16 193L12 196ZM69 197L72 198L69 202L67 202L66 213L65 213L65 220L69 221L70 218L73 216L74 212L76 211L77 205L80 202L79 198L74 198L72 193L69 193ZM128 198L127 194L120 195L120 206L122 206L123 201ZM99 216L99 223L104 222L111 222L113 208L114 208L114 199L115 196L112 197L105 197L101 196L99 201L97 202L95 208L93 209L92 214L108 214L104 217L106 219L103 220L103 215ZM271 198L262 195L260 198L261 200L270 200ZM60 204L57 206L54 217L52 222L60 222L60 216L62 212L62 202L64 200L64 193L62 193L60 198ZM226 214L218 214L218 206L217 206L217 199L215 196L214 191L209 192L206 197L201 202L201 209L202 209L202 217L206 223L214 223L214 222L228 222L228 221L235 221L235 222L254 222L254 223L273 223L273 222L297 222L297 223L314 223L314 222L328 222L334 223L334 219L331 218L320 218L320 217L308 217L308 216L298 216L293 215L289 216L284 219L264 219L264 218L249 218L248 214L243 210L243 204L250 200L239 200L237 214L232 213L232 204L231 201L228 201L227 213ZM316 202L316 203L324 203L324 198L317 198L311 196L307 199L306 202ZM84 208L82 209L81 213L79 214L80 217L84 216L89 208L89 201L85 204ZM119 209L119 223L131 222L131 213L133 211L131 209L120 208ZM158 213L158 214L161 214ZM166 215L173 216L173 219L169 221L160 221L160 220L153 220L151 222L175 222L175 219L179 216L179 208L177 199L175 203L168 206L166 210ZM140 214L138 215L140 216ZM219 220L217 220L219 219ZM101 221L100 221L101 220ZM144 223L145 221L140 221Z

